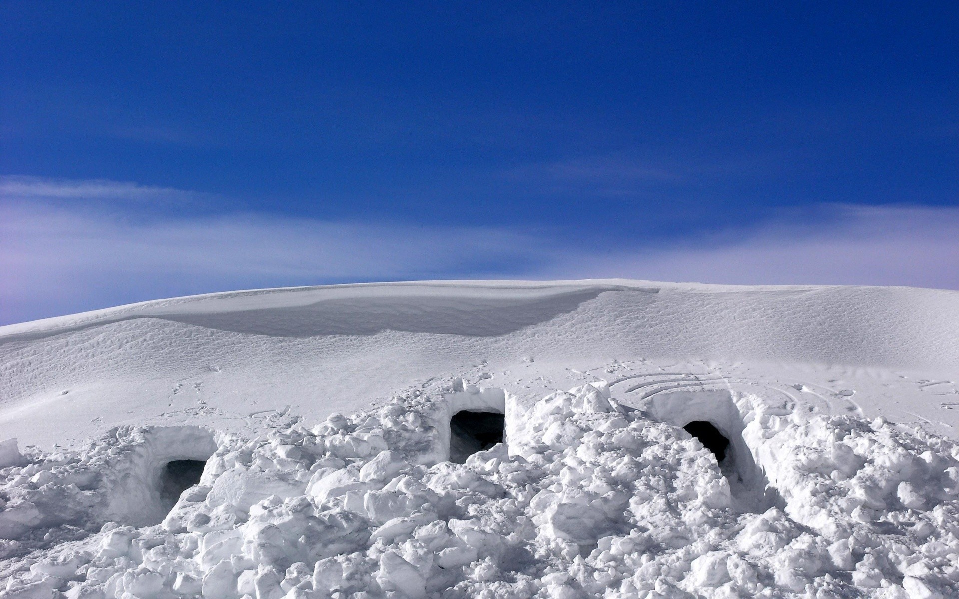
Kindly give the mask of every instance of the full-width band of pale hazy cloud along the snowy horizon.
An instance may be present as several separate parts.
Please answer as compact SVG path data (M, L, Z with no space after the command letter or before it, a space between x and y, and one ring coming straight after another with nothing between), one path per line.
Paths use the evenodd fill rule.
M959 288L956 207L823 206L665 244L610 238L590 223L584 235L582 227L547 234L256 214L143 219L135 202L106 210L46 200L149 199L169 190L27 177L2 185L10 187L0 188L0 324L187 293L342 281L629 277Z

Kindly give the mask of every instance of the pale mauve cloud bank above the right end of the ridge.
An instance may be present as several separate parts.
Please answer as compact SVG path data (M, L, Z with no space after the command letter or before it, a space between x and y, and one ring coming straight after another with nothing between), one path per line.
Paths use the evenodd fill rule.
M550 276L959 288L959 207L820 206L751 229L569 255Z

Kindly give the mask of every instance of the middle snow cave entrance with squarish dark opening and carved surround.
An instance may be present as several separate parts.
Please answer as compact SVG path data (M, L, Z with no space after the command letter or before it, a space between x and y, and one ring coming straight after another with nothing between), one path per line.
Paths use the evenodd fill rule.
M470 387L446 396L439 423L441 460L462 464L470 455L507 439L506 393Z

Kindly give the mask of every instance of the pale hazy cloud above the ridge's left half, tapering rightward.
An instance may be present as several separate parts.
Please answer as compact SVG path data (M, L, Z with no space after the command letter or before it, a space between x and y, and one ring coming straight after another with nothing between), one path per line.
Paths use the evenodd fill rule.
M0 205L0 324L231 288L535 272L544 240L503 229L223 215L143 219Z

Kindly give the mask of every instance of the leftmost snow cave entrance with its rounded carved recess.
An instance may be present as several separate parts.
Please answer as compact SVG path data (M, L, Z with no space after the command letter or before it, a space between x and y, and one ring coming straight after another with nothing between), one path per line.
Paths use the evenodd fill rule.
M110 485L108 519L134 526L160 523L180 495L199 484L217 447L214 433L201 426L146 429Z

